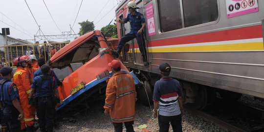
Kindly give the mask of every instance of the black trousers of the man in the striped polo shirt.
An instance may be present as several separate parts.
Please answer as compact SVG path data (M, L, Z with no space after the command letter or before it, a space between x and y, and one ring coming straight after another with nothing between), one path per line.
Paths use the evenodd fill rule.
M181 114L176 116L162 116L158 115L159 132L169 132L170 123L173 132L182 132Z

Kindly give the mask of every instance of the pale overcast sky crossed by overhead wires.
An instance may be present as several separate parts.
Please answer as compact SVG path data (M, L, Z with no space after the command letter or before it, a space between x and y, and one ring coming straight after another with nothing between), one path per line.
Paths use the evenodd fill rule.
M57 35L57 34L62 34L60 30L63 32L70 31L69 24L73 26L73 22L76 18L82 0L44 0L60 30L56 27L55 23L52 21L44 5L43 0L26 0L26 1L36 21L38 22L39 25L41 25L41 29L43 33L45 35ZM78 22L83 22L86 20L90 22L94 21L94 24L97 23L95 24L95 29L99 29L99 30L103 26L108 25L108 23L115 16L115 9L117 7L115 5L117 4L118 1L120 0L83 0L79 15L73 26L74 32L76 34L79 33L80 25L78 24ZM106 2L108 2L108 4L104 7ZM96 16L103 7L104 9L96 18ZM105 16L105 14L108 13L109 11L110 13ZM16 22L17 24L10 21L1 13L3 13L5 16L7 16L9 19ZM103 18L103 16L105 17ZM22 32L3 23L2 21L21 30ZM0 0L0 28L3 27L9 27L10 36L19 39L34 39L34 35L37 33L39 29L24 0Z

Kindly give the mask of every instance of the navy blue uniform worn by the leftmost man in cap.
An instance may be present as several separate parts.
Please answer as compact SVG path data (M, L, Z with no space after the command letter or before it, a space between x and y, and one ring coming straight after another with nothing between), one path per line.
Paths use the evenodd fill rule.
M19 100L18 89L9 79L4 78L1 83L3 84L0 84L0 100L3 106L4 124L7 124L9 132L17 132L21 126L20 121L17 120L19 111L14 107L12 101L15 99Z

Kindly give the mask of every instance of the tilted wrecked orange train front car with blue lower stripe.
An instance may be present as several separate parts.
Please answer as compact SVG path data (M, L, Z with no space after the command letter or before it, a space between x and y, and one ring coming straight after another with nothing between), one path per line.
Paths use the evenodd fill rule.
M114 39L111 40L114 42ZM63 104L57 110L80 110L80 107L86 107L86 100L96 100L105 94L105 80L111 76L108 63L116 59L112 55L112 45L115 44L108 42L96 30L67 44L50 59L49 65L54 68L63 84L59 87ZM124 65L121 65L121 70L129 72ZM130 74L134 77L135 84L140 84L136 76Z

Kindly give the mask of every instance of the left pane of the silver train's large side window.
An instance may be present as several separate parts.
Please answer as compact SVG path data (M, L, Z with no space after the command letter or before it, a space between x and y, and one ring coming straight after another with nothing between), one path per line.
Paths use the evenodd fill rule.
M158 6L161 32L182 28L179 0L158 0Z

